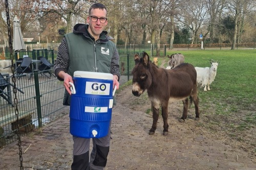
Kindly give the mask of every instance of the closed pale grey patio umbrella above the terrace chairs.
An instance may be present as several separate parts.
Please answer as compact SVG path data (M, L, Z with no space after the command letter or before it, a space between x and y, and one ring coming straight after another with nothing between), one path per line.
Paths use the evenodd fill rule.
M13 20L13 50L19 52L20 50L25 50L26 46L24 44L22 30L20 29L20 23L15 15Z

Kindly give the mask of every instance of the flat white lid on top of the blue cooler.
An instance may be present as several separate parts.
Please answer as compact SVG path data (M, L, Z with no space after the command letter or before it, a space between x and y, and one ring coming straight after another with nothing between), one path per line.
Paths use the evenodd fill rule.
M113 75L104 72L91 72L91 71L75 71L74 77L89 78L89 79L103 79L113 80Z

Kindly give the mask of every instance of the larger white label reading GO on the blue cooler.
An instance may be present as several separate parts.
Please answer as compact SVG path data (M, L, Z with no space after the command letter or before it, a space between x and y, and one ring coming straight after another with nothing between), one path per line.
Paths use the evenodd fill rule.
M110 83L86 82L86 94L110 95Z

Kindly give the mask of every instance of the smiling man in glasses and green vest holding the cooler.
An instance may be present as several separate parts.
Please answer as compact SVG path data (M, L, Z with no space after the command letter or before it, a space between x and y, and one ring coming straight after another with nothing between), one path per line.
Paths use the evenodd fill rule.
M73 33L64 35L58 48L54 72L63 81L65 97L63 105L70 104L70 84L74 71L111 73L113 86L119 88L119 54L115 44L104 30L108 24L106 7L96 3L89 9L88 25L77 24ZM93 138L89 163L90 139L73 136L73 163L71 169L103 169L110 148L110 127L107 136Z

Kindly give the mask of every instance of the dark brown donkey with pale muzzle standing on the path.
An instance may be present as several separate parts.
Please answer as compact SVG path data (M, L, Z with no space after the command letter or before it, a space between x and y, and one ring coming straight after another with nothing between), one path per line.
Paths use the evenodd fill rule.
M147 90L148 98L153 108L153 125L150 135L155 133L159 117L159 109L162 107L163 135L168 134L168 102L182 101L183 114L180 122L187 117L188 97L190 104L195 104L196 119L199 119L199 100L197 96L197 72L193 65L183 63L174 69L158 68L154 65L146 53L140 58L134 56L135 67L133 74L133 94L140 96Z

